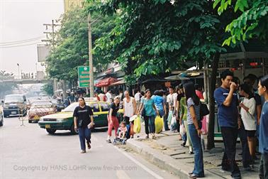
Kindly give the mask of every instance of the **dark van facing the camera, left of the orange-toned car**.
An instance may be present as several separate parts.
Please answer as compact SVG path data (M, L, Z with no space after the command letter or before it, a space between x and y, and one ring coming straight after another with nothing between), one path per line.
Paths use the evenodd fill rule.
M3 104L4 117L7 116L26 116L27 101L23 94L9 94L6 95Z

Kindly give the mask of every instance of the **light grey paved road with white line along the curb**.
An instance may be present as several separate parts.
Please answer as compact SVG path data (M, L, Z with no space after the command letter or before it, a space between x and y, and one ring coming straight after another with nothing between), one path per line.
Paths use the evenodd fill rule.
M81 154L69 131L49 135L38 124L20 126L17 117L0 127L0 178L177 178L135 153L106 143L106 130L92 134L92 148Z

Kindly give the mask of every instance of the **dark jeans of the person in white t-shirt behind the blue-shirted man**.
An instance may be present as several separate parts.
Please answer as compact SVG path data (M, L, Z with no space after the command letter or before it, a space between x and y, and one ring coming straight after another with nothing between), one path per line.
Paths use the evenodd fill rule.
M242 163L243 163L243 167L247 168L248 166L250 166L252 158L250 156L250 149L248 148L247 134L246 134L246 131L245 131L244 124L242 124L240 129L238 129L238 134L239 134L239 138L240 138L240 141L241 141L241 144L242 144Z

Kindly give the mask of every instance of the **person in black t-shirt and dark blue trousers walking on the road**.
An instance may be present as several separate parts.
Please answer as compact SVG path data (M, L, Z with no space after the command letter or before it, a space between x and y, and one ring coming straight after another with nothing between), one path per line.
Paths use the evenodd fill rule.
M86 106L83 97L78 99L79 106L74 109L74 130L77 131L81 146L81 153L86 153L86 144L88 149L91 148L91 127L94 126L93 112L91 107ZM85 143L86 140L86 143Z

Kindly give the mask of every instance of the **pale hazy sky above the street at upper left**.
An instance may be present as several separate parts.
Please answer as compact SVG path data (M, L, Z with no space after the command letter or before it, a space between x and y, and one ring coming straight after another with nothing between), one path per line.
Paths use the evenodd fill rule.
M28 40L44 36L43 23L51 23L64 11L63 0L0 0L0 70L18 75L18 66L22 72L35 72L37 63L37 44L40 39L21 47L8 47L6 43ZM10 45L9 45L10 47ZM38 70L42 70L38 64Z

